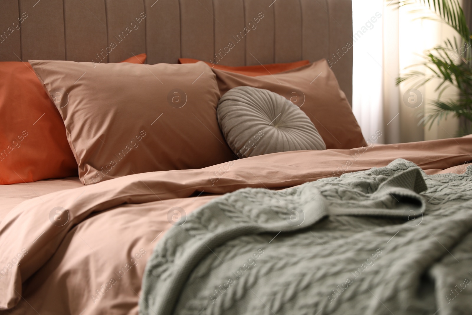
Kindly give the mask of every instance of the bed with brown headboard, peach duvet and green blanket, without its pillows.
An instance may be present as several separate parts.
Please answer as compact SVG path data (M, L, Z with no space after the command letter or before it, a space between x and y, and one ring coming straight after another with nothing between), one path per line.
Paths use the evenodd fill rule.
M352 99L352 50L340 51L352 36L348 0L8 0L2 3L0 26L9 27L9 21L15 21L21 12L27 12L21 33L16 30L1 43L0 61L98 63L97 52L109 47L114 41L112 34L120 34L130 21L141 17L144 25L133 29L116 49L102 54L103 63L118 62L143 51L148 65L175 64L178 58L215 63L219 47L227 47L228 40L248 19L264 12L264 19L247 33L243 45L236 45L224 56L219 54L221 65L325 58L330 60L329 68L347 101ZM149 122L152 120L154 117ZM472 190L468 168L471 152L471 136L394 145L370 142L350 149L263 154L202 168L136 171L110 178L100 175L100 180L90 177L88 185L77 176L1 185L0 314L470 314L468 279L472 276L467 268L471 265L472 220L467 202L472 197L468 195ZM332 201L329 194L335 188L347 194L340 197L342 201L350 200L347 196L377 196L376 192L383 190L388 194L379 195L380 201L372 205L359 201L362 207L377 211L367 218L358 205L353 206L357 212L336 209L331 215L317 214L319 209L330 207L322 203ZM398 196L404 198L402 202L396 200ZM298 222L300 213L292 212L292 208L302 197L309 197L306 204L311 205L298 205L297 209L303 208L303 220ZM244 198L253 200L252 204L261 202L260 209L266 212L256 215L257 211L246 207ZM292 198L293 206L286 206L283 198ZM392 198L401 204L395 215L384 211L396 204ZM286 227L277 225L277 218L271 217L264 203L268 209L290 209L282 214L290 220L295 215L295 223L287 219ZM442 204L446 203L447 208L457 210L444 213ZM225 216L221 209L226 209ZM423 220L423 212L432 213L430 217L437 220L443 218L449 230L434 226L438 221L431 223L428 215L421 225L425 228L414 230ZM212 221L208 216L220 220ZM348 230L354 223L331 224L327 216L339 224L354 221L362 231ZM238 229L232 228L230 219ZM243 223L247 225L244 229ZM203 232L205 229L198 230L199 225L208 233L221 234L210 235ZM397 229L400 225L402 228ZM316 229L310 230L311 226ZM307 231L315 238L305 240ZM424 238L414 239L415 231ZM331 239L325 240L325 236ZM368 241L353 256L348 256L343 247L355 247L349 239L376 238L385 243L379 251ZM338 243L330 243L333 239ZM289 242L293 240L295 245ZM261 242L264 247L254 252ZM297 247L299 244L304 247ZM405 262L398 250L402 246L405 257L420 254L414 261L391 264L390 268L392 260ZM296 247L297 253L320 253L326 259L297 257L290 247ZM188 257L185 250L194 255ZM345 279L323 282L325 278L316 273L323 266L334 266L334 273L344 277L344 271L365 261L359 253L370 259L370 269L361 272L388 279L391 287L375 286L376 281L355 281L356 289L349 291L346 288L351 284ZM227 265L219 255L225 255ZM270 279L263 278L262 273L277 269L282 257L294 257L295 261L286 262L287 269L280 267ZM455 264L455 258L463 263L457 260ZM297 260L312 262L316 268L311 276L317 274L313 279L318 280L295 272L310 269L296 265ZM228 270L243 270L239 265L246 261L250 267L244 267L249 270L244 281L237 278L234 286L227 280L221 282L228 278ZM275 267L267 267L270 265ZM371 272L374 266L378 274ZM327 270L334 277L329 271L332 269ZM288 280L284 274L290 275ZM281 279L288 282L278 283ZM277 285L288 289L264 291ZM203 293L207 291L210 293Z

